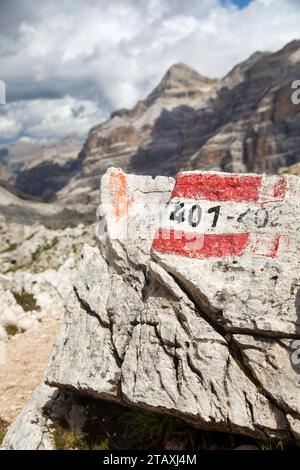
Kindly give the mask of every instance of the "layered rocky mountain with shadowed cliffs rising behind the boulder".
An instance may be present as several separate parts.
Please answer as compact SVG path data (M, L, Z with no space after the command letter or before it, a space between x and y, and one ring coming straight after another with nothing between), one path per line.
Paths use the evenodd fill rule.
M81 170L59 198L95 201L98 175L111 165L174 176L184 169L276 173L296 163L300 105L291 102L291 84L299 76L299 41L254 54L222 80L174 65L145 100L90 131Z

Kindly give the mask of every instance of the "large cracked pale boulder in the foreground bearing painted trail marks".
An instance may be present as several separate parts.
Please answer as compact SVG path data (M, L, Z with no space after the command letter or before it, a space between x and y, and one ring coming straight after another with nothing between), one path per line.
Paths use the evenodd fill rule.
M187 175L190 193L182 175L175 187L116 169L103 177L99 246L83 248L46 382L203 429L299 442L298 179L214 174L203 185L211 173ZM182 203L209 215L198 232L200 210L187 230ZM276 228L257 227L262 208L273 223L280 214Z

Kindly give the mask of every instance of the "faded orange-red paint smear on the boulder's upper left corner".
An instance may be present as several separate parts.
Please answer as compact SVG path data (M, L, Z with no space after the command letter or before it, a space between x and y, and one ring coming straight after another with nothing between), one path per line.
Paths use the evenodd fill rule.
M126 174L121 169L113 169L109 173L109 186L115 217L119 220L121 217L127 215L130 203L127 193Z

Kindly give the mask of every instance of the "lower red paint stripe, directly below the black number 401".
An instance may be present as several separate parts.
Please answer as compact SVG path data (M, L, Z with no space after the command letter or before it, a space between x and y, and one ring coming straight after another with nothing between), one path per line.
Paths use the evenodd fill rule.
M249 233L195 234L174 229L159 229L152 250L189 258L241 256Z

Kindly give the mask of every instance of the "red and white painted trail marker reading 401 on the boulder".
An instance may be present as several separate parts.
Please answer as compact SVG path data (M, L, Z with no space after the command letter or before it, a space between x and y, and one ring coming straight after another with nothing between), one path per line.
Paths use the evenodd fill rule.
M191 258L276 257L289 243L279 229L289 190L283 176L180 173L153 250Z

